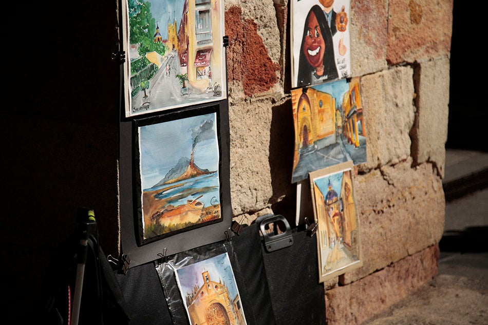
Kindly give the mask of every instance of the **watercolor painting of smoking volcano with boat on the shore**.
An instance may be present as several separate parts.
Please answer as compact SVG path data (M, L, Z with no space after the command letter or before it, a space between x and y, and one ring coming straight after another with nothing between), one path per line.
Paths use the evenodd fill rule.
M221 221L216 113L140 126L143 240Z

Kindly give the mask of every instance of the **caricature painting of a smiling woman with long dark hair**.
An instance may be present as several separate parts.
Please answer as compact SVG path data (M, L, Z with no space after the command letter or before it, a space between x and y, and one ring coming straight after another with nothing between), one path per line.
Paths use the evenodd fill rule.
M292 0L292 88L351 77L350 1Z

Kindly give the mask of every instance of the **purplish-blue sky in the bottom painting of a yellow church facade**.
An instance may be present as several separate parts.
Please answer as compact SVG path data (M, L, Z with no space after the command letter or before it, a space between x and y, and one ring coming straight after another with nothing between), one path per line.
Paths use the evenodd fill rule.
M176 273L178 275L180 290L183 296L185 296L187 292L191 292L195 284L200 288L203 284L202 273L204 271L209 272L211 281L219 282L219 280L222 280L222 283L225 282L227 289L229 290L230 298L235 298L237 295L237 287L227 253L178 269Z

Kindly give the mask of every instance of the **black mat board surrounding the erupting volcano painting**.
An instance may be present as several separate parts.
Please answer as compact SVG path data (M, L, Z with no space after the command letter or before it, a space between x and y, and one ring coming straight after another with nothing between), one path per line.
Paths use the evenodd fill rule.
M171 236L141 240L139 165L136 159L135 132L138 126L178 120L200 114L216 113L219 146L219 185L221 221L189 228ZM224 240L232 223L230 200L229 111L227 100L164 111L120 123L120 227L122 254L130 258L130 266L154 261L161 255L173 255L205 244ZM138 187L139 186L139 187Z

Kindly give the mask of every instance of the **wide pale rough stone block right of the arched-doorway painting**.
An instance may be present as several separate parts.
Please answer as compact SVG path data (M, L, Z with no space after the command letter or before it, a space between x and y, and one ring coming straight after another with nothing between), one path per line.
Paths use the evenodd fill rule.
M414 124L413 70L397 67L361 78L366 129L365 164L360 171L396 163L410 156Z

